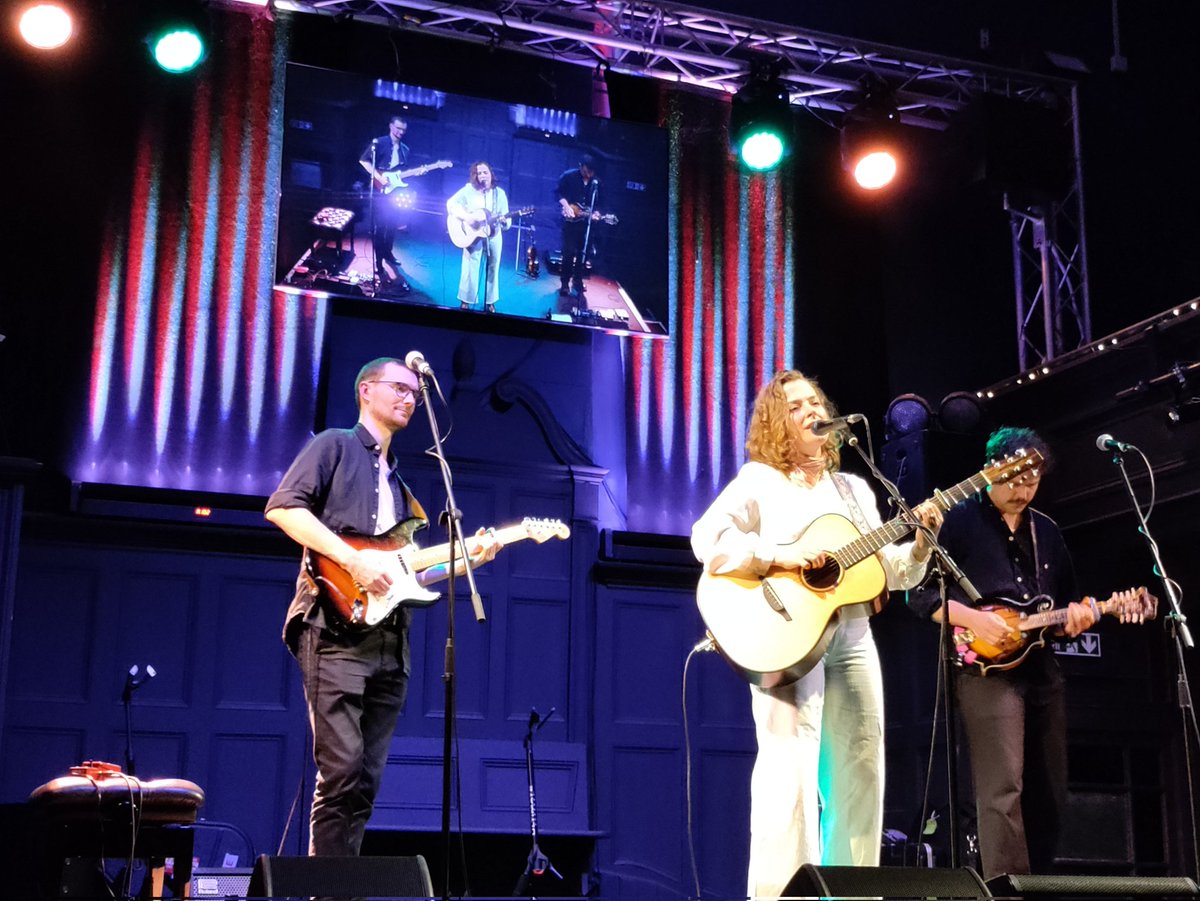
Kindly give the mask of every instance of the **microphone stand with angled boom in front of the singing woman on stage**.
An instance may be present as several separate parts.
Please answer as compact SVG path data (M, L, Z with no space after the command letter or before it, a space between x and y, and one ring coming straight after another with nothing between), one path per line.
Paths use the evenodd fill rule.
M870 455L866 453L862 445L858 443L858 438L850 434L846 438L846 444L853 448L858 456L863 458L866 468L871 470L871 475L875 476L876 481L880 482L887 489L892 498L892 504L901 512L907 522L913 523L914 529L919 529L925 533L925 540L932 551L931 558L934 565L937 567L938 573L938 593L941 597L941 609L942 609L942 659L938 666L942 669L942 704L946 710L946 804L948 807L948 819L949 819L949 831L950 831L950 866L953 869L959 867L960 852L959 852L959 738L958 727L955 723L955 703L954 703L954 691L950 687L950 666L956 657L954 649L954 630L950 627L950 599L946 590L946 576L949 575L954 582L962 589L966 594L967 600L972 603L980 600L980 594L971 579L967 578L966 573L959 567L954 558L950 557L949 552L942 547L937 536L934 535L932 529L920 524L917 515L913 513L912 507L908 501L904 499L900 494L900 489L880 471L880 468L875 465L875 461L871 459Z

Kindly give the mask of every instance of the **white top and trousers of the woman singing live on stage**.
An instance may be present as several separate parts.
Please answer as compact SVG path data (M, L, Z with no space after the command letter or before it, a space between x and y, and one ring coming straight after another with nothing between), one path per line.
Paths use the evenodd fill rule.
M841 475L871 529L875 495ZM851 522L829 473L812 487L764 463L746 463L691 530L712 573L764 575L778 545L824 513ZM826 548L835 551L838 548ZM912 588L925 564L912 543L880 552L888 588ZM865 618L842 618L821 661L802 679L751 687L758 756L750 779L751 897L779 897L803 864L878 866L883 831L883 680Z

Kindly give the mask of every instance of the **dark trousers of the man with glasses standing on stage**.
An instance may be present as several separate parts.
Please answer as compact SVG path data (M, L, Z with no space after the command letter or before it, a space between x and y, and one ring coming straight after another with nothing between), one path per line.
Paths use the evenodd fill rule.
M408 633L379 626L346 637L310 627L298 656L317 763L308 853L356 855L408 691Z

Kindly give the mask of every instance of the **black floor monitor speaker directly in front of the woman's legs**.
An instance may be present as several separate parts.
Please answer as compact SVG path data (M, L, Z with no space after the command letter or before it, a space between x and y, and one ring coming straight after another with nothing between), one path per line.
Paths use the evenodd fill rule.
M990 899L968 866L930 870L920 866L815 866L805 864L784 889L784 897Z

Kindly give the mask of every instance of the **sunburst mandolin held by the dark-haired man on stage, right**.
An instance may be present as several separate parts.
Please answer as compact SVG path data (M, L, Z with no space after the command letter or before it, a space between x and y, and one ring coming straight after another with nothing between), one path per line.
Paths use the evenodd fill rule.
M1132 600L1117 597L1114 591L1106 601L1094 601L1100 614L1121 617L1126 613L1140 615L1141 620L1153 619L1158 614L1158 599L1142 588L1133 589L1138 594ZM1055 608L1050 599L1034 599L1026 607L1033 606L1036 613L1026 613L1020 603L1003 597L994 599L997 603L979 607L997 613L1008 623L1009 632L1000 644L990 644L976 636L970 629L954 626L954 649L959 666L974 666L980 675L991 669L1012 669L1020 665L1030 651L1046 643L1046 631L1051 626L1061 626L1067 621L1067 608ZM1085 599L1087 600L1087 599Z

